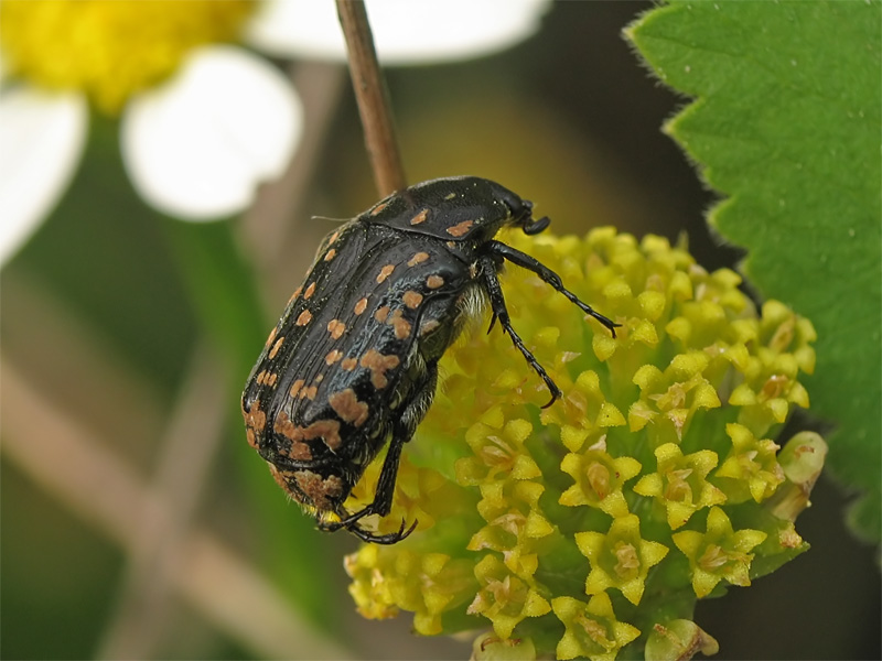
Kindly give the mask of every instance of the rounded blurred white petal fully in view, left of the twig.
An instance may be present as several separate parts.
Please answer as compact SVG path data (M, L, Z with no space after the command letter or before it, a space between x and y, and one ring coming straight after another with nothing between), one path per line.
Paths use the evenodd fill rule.
M300 141L303 110L286 78L233 46L194 51L168 84L132 99L122 156L151 205L186 220L248 207Z

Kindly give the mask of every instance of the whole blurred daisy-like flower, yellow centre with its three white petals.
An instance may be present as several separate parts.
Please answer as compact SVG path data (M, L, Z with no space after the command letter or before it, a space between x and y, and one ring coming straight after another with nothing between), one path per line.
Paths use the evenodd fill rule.
M514 45L536 32L549 6L549 0L369 0L367 10L385 64L424 64ZM243 23L255 7L257 14ZM151 13L139 19L138 12ZM80 14L79 29L72 29ZM158 33L163 21L169 28ZM334 0L260 6L6 0L0 264L73 178L88 133L89 102L120 113L122 161L151 206L197 221L247 208L258 186L289 163L303 112L290 83L268 62L218 43L235 35L273 55L345 59ZM155 53L139 51L153 45ZM39 62L24 66L28 58ZM10 85L9 76L18 82Z

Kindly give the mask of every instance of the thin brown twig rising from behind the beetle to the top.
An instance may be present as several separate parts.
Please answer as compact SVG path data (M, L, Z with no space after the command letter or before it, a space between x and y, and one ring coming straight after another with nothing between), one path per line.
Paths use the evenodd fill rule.
M349 54L349 74L365 130L374 181L381 197L407 186L395 136L386 78L379 68L363 0L337 0L337 15Z

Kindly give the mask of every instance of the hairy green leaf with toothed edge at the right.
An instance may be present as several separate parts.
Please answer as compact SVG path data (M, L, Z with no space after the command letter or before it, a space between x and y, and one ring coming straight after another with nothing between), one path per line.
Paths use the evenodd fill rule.
M725 196L709 221L747 249L765 297L818 332L811 411L837 425L829 463L865 490L850 513L880 537L882 65L878 1L675 2L627 30L655 73L697 100L666 130Z

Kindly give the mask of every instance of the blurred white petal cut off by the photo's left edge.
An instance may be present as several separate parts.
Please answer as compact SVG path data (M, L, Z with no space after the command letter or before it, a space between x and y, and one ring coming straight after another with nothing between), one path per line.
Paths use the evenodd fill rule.
M0 263L67 189L88 129L86 99L18 86L0 95Z

